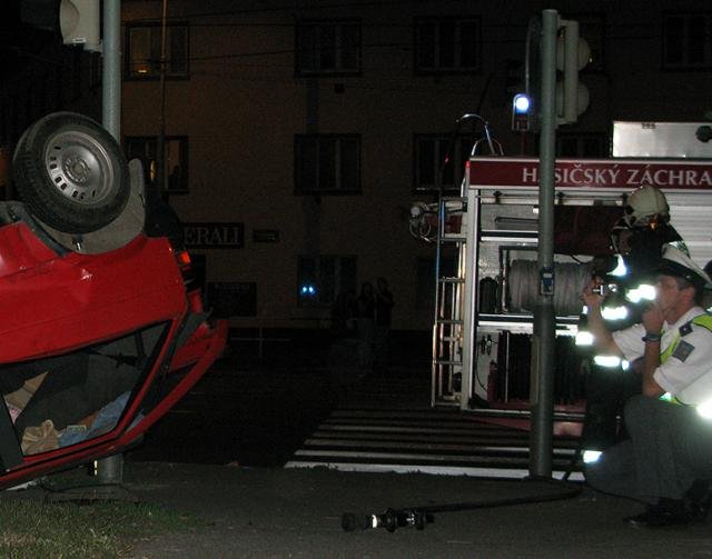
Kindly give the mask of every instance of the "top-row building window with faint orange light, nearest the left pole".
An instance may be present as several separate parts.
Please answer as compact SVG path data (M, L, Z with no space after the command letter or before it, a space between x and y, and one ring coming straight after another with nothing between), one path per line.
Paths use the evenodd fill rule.
M149 36L149 50L151 51L151 58L147 59L147 66L149 67L149 71L146 73L135 72L132 71L132 67L135 66L134 57L131 52L132 48L132 32L135 30L145 30L148 29L151 31ZM160 29L161 26L159 22L141 22L141 23L127 23L125 31L125 49L123 49L123 79L127 81L151 81L160 79ZM166 27L167 29L167 60L166 60L166 79L167 80L188 80L190 79L190 26L187 22L174 22ZM182 71L171 71L170 70L170 61L174 59L171 57L171 33L175 29L185 29L185 70ZM155 39L154 36L158 34L158 38ZM156 44L157 43L157 44ZM156 48L158 52L155 52ZM154 64L156 68L150 69L150 66Z

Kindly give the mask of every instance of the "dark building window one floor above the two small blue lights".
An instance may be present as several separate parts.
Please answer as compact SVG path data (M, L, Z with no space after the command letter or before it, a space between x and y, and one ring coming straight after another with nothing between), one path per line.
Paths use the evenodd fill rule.
M335 142L334 157L335 160L333 162L333 168L335 176L333 177L335 187L333 188L322 188L317 186L316 188L304 187L303 182L304 174L308 172L305 170L306 161L304 159L304 151L306 149L306 142L310 140L316 140L316 149L315 156L316 161L314 163L314 173L316 176L316 180L313 183L320 184L322 183L322 174L323 174L323 164L322 164L322 151L324 148L324 143ZM354 188L340 188L338 184L344 183L344 176L348 172L348 169L345 169L345 158L344 158L344 146L345 142L355 141L355 150L354 153L354 163L356 169L354 170L356 178L354 180ZM360 194L362 193L362 136L358 133L346 133L346 134L320 134L320 133L301 133L295 134L294 137L294 193L296 196L301 194L317 194L317 196L347 196L347 194ZM328 164L328 163L327 163ZM332 166L329 166L332 167Z

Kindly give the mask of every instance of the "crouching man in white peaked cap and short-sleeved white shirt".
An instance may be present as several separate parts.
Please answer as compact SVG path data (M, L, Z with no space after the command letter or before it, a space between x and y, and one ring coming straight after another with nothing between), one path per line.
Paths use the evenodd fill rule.
M647 503L626 520L636 527L704 519L712 479L712 316L700 306L710 277L675 247L665 247L656 297L641 322L611 332L592 280L583 292L594 345L629 361L642 358L642 395L625 405L630 439L585 466L601 491Z

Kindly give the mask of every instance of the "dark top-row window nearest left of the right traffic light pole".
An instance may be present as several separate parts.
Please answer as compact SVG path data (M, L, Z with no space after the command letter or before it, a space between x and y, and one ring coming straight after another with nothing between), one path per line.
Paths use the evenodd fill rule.
M423 29L424 24L429 23L435 28L433 33L432 58L433 66L423 64L423 52L426 48L423 44ZM453 63L443 64L443 46L447 44L442 40L442 27L447 23L453 23L456 28L455 37L452 39L453 46ZM461 49L456 49L458 44L457 39L462 36L464 24L472 23L475 26L477 36L474 39L475 52L472 54L474 64L465 66L462 62L463 59L463 41L459 41ZM416 74L432 76L432 74L458 74L458 73L479 73L482 72L482 17L474 14L463 16L417 16L413 20L413 69Z

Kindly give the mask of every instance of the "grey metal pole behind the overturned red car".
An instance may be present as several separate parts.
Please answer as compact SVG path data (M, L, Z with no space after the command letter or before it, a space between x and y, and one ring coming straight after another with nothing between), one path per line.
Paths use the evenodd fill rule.
M121 0L103 0L103 40L101 52L101 121L118 142L121 141ZM97 462L101 483L121 483L123 455L113 455Z

